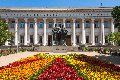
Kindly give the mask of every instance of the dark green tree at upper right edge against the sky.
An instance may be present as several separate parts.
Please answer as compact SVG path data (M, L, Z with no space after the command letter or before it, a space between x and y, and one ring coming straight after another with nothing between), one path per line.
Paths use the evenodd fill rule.
M112 17L114 19L115 27L117 27L118 32L120 32L120 6L113 8Z

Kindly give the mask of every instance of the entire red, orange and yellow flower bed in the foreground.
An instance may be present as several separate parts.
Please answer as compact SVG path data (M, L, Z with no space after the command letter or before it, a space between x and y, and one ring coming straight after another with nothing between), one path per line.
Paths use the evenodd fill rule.
M2 80L120 79L120 67L93 57L38 54L0 68Z

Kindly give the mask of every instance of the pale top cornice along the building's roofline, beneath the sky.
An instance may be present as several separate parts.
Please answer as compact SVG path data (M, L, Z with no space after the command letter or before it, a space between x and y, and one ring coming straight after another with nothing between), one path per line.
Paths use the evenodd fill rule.
M113 7L89 7L89 8L0 8L0 12L111 12Z

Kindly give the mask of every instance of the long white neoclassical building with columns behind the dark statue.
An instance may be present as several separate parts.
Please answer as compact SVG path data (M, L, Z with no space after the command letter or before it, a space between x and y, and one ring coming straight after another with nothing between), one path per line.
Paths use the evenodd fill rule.
M66 44L107 45L107 35L117 32L112 7L0 8L0 16L15 32L14 45L52 46L53 28L66 28ZM5 45L8 46L9 42Z

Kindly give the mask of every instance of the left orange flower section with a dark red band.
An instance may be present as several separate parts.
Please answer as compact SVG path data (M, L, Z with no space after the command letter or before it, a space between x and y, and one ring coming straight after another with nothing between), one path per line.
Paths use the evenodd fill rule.
M31 75L38 72L39 69L43 68L52 58L38 58L29 57L27 59L21 59L12 64L4 66L0 70L0 79L6 80L26 80Z

